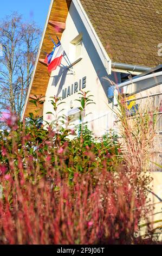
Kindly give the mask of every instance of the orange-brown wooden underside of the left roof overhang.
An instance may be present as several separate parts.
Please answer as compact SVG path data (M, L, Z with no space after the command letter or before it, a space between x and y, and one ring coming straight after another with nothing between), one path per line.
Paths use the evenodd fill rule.
M51 0L53 1L53 0ZM53 5L51 7L49 19L47 21L47 27L44 38L41 46L41 50L44 52L51 52L54 45L49 35L56 40L56 35L61 40L62 33L65 29L65 23L67 19L67 15L70 8L70 3L72 0L54 0ZM59 28L59 29L58 29ZM42 51L38 52L37 63L35 68L35 73L33 74L33 80L31 80L30 88L28 89L28 95L25 102L23 118L29 117L29 113L35 113L35 105L30 103L30 96L44 96L46 95L46 90L49 83L50 73L48 72L47 65L43 62L46 54ZM38 113L42 114L43 106L37 109Z

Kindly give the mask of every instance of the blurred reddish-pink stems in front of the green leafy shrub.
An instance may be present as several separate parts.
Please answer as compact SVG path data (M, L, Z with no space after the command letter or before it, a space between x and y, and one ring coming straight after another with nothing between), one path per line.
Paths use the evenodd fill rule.
M147 209L146 196L138 188L138 175L121 167L118 173L105 168L68 176L51 173L34 181L30 170L1 176L4 198L0 202L0 243L95 244L133 243L134 232ZM14 169L13 169L14 167ZM63 165L60 166L63 168ZM35 172L37 170L35 169ZM138 174L138 175L137 175ZM53 178L50 178L53 177ZM2 217L3 216L3 217Z

